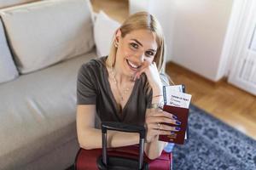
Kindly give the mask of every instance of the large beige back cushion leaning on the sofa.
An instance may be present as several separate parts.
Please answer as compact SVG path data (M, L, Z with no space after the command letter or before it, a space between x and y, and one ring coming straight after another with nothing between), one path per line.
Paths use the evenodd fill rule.
M90 51L91 13L89 0L49 0L0 12L20 73Z

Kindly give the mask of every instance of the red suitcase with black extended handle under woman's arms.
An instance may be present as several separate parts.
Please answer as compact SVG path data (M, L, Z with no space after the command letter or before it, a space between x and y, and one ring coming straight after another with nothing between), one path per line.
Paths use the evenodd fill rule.
M140 133L140 145L131 145L108 149L107 154L107 130ZM162 152L161 156L149 160L143 156L143 144L145 137L144 127L125 125L117 122L102 122L102 149L79 149L76 156L75 169L149 169L172 170L172 153ZM137 161L138 160L138 161Z

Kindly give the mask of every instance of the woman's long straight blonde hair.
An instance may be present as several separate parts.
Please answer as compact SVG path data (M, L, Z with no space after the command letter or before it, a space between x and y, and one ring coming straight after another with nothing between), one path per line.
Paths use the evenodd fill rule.
M147 12L138 12L136 14L132 14L119 27L119 30L121 31L121 37L125 37L126 34L136 30L152 31L152 33L154 33L154 36L156 37L155 39L158 45L157 52L154 55L154 62L159 72L165 72L164 64L166 57L164 36L159 21L152 14L148 14ZM115 65L117 48L114 46L114 37L115 35L113 35L110 52L106 61L108 67L113 67L113 65Z

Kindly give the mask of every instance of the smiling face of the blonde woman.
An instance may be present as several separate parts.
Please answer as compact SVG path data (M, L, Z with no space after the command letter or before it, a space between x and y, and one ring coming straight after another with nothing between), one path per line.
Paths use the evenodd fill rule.
M142 65L152 63L157 50L157 42L152 31L131 31L121 37L121 31L116 33L118 49L116 66L125 76L133 76Z

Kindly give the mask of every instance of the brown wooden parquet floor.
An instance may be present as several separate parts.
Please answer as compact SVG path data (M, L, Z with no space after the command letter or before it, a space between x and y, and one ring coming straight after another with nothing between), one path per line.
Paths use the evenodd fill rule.
M103 10L122 22L129 14L128 0L91 0L94 10ZM256 139L256 97L226 81L210 82L172 62L166 73L176 84L183 83L192 94L192 104Z

